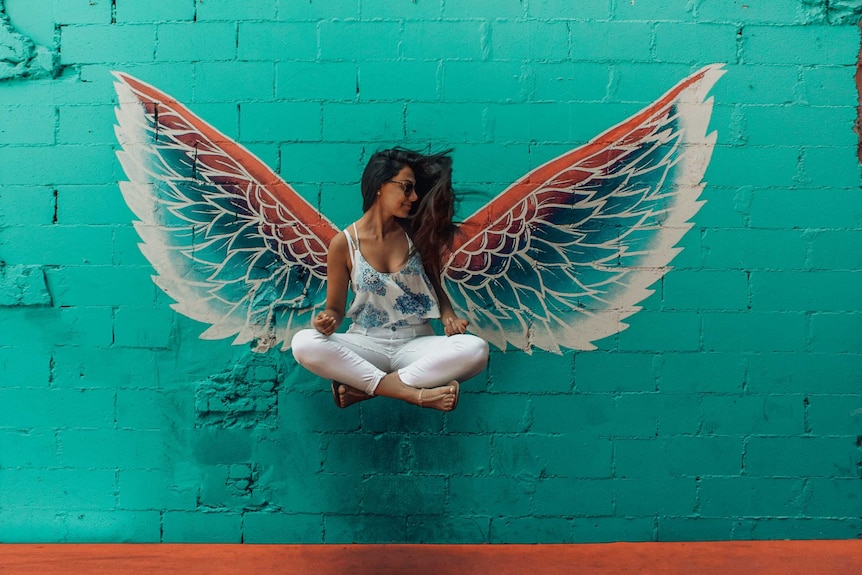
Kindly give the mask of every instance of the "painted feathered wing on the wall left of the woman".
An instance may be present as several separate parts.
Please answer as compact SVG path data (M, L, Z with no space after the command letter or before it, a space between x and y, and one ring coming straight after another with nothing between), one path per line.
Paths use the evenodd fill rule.
M179 313L265 351L325 302L338 232L248 150L167 94L116 73L120 189L141 250Z

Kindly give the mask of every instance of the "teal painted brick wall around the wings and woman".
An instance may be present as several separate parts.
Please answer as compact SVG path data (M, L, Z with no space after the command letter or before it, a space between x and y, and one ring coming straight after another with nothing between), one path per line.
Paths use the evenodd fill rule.
M0 83L0 542L862 535L858 3L36 4L5 1L62 68ZM454 147L465 217L713 62L675 269L596 351L495 351L447 415L199 339L117 186L111 70L344 226L378 148Z

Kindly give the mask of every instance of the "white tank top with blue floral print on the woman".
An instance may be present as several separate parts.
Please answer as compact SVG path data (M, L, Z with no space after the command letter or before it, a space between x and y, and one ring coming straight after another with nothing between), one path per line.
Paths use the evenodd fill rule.
M413 250L410 236L407 245L412 253L407 264L397 272L386 274L371 267L362 257L356 224L353 224L353 234L355 240L344 230L350 246L353 264L350 281L355 294L347 315L354 323L364 328L402 327L440 317L434 287L425 274L419 252Z

